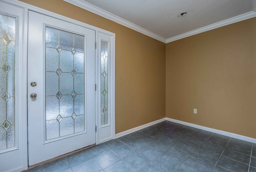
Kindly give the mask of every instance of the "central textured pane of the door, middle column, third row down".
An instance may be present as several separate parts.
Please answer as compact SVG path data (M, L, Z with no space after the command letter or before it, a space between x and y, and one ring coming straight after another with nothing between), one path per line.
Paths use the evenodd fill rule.
M71 73L60 75L60 92L62 95L70 95L74 90L74 78Z

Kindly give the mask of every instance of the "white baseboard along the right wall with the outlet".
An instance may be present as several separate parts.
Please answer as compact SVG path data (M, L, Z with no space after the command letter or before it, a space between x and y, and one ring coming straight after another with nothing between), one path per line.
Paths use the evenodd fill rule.
M235 134L235 133L232 133L232 132L226 132L226 131L222 131L222 130L212 129L212 128L204 127L204 126L201 126L201 125L187 123L187 122L184 122L184 121L179 121L179 120L171 119L171 118L166 118L166 121L171 121L171 122L186 125L186 126L189 126L189 127L194 127L196 129L201 129L201 130L205 130L205 131L209 131L209 132L214 132L216 134L221 134L221 135L224 135L224 136L229 136L229 137L232 137L232 138L237 138L237 139L240 139L240 140L256 143L256 138L242 136L242 135Z

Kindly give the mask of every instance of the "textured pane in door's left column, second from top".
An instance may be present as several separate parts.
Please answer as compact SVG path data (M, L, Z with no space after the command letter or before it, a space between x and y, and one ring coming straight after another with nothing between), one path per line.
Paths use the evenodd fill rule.
M59 53L55 48L46 47L46 71L55 72L59 68Z

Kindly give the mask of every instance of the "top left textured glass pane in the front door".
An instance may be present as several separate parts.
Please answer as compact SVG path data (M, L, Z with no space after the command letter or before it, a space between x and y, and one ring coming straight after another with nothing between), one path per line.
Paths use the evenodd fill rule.
M59 45L59 31L46 27L45 42L46 47L56 48Z

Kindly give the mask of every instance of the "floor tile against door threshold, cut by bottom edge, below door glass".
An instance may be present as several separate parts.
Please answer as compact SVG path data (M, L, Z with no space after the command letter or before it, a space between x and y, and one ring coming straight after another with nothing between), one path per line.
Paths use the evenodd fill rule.
M61 172L70 168L67 157L63 157L42 165L42 172Z

